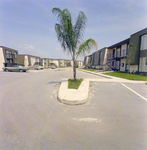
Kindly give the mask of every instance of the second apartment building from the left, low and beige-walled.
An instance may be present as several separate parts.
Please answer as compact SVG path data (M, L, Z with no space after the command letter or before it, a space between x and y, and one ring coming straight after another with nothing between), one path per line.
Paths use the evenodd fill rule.
M22 55L18 55L18 58L19 58L18 64L25 67L41 64L41 58L38 56L22 54Z

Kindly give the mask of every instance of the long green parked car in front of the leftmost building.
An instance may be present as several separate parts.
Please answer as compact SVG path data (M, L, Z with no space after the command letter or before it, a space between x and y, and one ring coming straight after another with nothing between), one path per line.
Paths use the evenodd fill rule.
M18 66L14 65L13 67L3 67L3 71L19 71L19 72L26 72L29 68L26 68L24 66Z

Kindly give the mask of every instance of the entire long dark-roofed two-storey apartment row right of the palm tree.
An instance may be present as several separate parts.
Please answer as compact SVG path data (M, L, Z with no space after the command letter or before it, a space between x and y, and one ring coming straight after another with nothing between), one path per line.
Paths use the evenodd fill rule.
M84 58L84 65L114 71L147 74L147 28L130 38L103 48Z

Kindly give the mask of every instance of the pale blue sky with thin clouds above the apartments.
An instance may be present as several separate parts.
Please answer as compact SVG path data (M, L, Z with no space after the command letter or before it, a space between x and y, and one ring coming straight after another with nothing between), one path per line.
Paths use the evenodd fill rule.
M83 11L88 19L83 40L94 39L98 50L147 28L147 0L0 0L0 46L19 54L71 59L57 41L54 7L67 8L73 24Z

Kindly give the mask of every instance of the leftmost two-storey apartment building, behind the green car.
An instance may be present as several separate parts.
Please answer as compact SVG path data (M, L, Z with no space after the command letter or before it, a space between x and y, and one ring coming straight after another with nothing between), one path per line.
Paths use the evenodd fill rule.
M3 67L11 67L17 65L19 62L18 60L18 51L0 46L0 70Z

